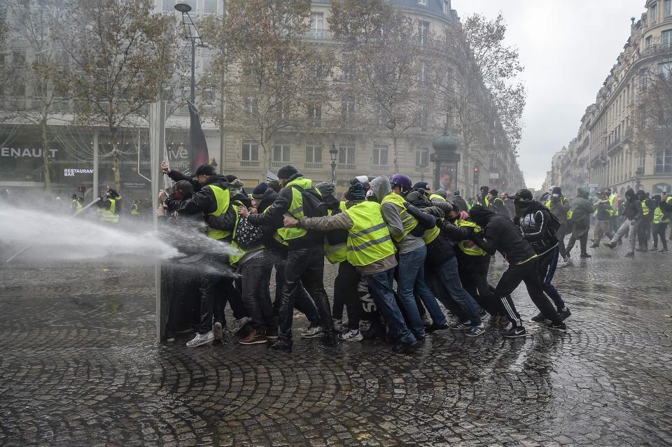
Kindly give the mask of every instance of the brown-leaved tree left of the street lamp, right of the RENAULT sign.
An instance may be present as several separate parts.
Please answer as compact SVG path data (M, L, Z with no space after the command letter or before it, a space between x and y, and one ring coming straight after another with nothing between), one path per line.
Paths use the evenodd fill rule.
M59 26L59 45L71 59L61 82L75 95L78 120L109 130L118 189L118 132L139 124L173 76L174 18L153 7L151 0L72 0Z

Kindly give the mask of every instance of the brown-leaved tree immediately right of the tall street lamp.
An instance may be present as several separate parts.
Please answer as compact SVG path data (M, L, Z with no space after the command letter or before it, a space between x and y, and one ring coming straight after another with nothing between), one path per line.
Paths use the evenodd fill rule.
M232 0L227 15L204 24L204 35L218 48L207 78L221 90L233 127L262 152L262 177L269 169L272 144L285 130L307 125L318 92L327 92L321 70L327 59L302 39L309 30L309 0ZM254 162L251 160L251 162Z

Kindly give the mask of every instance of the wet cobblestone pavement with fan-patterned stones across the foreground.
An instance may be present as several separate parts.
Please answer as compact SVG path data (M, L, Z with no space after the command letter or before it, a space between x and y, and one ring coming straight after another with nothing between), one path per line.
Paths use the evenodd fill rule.
M440 332L416 355L160 346L153 269L2 267L0 445L672 445L672 257L622 251L559 269L566 334Z

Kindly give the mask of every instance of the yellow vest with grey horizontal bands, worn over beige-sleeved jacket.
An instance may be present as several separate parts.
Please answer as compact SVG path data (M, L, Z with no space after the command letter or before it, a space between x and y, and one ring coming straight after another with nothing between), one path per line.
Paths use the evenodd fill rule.
M394 255L395 247L380 205L363 201L343 211L350 216L353 226L348 230L348 261L355 267L373 264Z

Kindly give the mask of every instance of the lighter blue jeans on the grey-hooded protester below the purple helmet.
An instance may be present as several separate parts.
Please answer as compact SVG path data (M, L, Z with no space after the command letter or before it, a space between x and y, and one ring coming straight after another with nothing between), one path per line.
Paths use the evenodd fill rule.
M427 247L421 246L399 256L397 277L397 293L406 312L408 325L415 336L423 336L425 329L422 318L415 304L414 290L417 290L420 299L427 307L433 322L443 325L446 317L443 315L433 293L425 283L425 257Z

